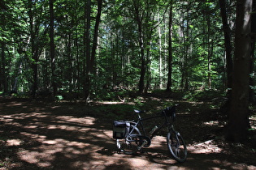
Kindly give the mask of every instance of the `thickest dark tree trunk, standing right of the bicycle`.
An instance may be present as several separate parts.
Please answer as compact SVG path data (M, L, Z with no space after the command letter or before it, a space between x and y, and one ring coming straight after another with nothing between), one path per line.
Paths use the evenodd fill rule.
M232 101L226 137L241 142L249 128L249 62L252 0L237 0Z

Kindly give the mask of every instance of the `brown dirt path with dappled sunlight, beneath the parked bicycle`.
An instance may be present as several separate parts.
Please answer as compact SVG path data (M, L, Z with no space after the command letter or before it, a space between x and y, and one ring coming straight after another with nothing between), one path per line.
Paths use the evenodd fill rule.
M161 136L143 154L118 153L111 122L71 113L76 107L1 100L0 169L256 169L251 155L234 155L213 140L189 143L183 164L169 156Z

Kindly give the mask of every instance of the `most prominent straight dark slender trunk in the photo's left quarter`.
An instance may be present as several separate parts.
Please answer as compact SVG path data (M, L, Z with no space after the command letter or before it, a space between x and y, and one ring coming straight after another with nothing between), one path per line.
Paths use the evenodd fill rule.
M54 47L54 0L50 0L50 63L51 63L51 84L54 96L57 94L57 83L55 73L55 47Z

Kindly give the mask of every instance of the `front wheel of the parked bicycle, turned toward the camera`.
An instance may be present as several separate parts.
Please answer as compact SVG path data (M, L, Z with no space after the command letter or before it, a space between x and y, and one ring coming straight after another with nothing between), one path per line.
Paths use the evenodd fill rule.
M167 147L171 155L182 163L187 159L187 147L179 132L171 130L167 134Z

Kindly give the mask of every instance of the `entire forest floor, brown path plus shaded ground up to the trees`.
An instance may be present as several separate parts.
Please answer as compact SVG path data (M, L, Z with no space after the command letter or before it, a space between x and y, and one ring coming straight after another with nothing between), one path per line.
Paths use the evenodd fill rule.
M176 103L176 127L189 151L184 163L171 158L161 135L142 154L116 151L113 120L131 120L134 108L154 113ZM213 103L148 96L84 104L0 96L0 169L256 169L255 117L248 142L228 143Z

